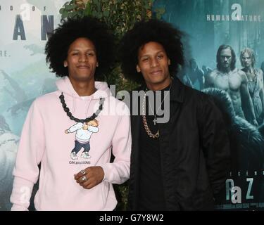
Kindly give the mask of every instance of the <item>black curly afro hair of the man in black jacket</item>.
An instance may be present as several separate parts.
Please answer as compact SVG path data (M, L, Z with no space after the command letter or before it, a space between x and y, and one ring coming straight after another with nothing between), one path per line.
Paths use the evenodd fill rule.
M158 42L163 46L170 58L170 75L176 75L178 66L184 64L181 38L180 30L162 20L142 20L136 23L120 41L119 57L125 77L139 84L144 83L143 76L139 76L136 70L137 57L139 48L150 41Z

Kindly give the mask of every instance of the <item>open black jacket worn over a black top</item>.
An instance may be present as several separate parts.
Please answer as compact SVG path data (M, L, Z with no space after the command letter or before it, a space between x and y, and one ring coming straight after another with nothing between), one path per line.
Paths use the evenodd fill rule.
M131 113L130 210L138 210L139 202L140 123L142 117ZM175 78L170 120L159 124L159 131L165 210L213 210L213 197L225 184L230 165L230 145L218 108L209 96Z

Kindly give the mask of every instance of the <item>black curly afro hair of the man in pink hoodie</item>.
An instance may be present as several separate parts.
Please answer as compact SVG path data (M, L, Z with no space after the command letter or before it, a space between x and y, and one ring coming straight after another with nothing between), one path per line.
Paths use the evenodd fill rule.
M68 76L68 68L63 66L63 62L68 56L70 44L80 37L89 39L95 46L99 67L94 78L100 80L113 63L115 39L108 27L96 18L86 16L63 20L46 43L46 63L57 77Z

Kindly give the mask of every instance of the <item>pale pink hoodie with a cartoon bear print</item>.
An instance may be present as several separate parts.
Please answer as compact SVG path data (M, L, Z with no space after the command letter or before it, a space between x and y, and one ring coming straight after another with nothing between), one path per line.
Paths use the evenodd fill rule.
M85 100L78 96L68 77L56 84L58 91L37 98L27 114L13 170L11 210L27 210L38 178L36 210L113 210L117 201L112 184L122 184L130 176L129 110L125 103L111 96L105 82L95 82L97 91ZM103 110L96 117L97 132L90 132L86 138L90 158L81 157L83 148L77 153L77 159L71 158L76 132L65 134L65 130L77 123L64 112L58 98L61 92L70 112L79 119L95 113L99 98L105 98ZM78 135L82 136L81 132ZM111 150L115 155L112 163ZM100 184L84 189L76 183L74 174L91 166L101 166L105 175Z

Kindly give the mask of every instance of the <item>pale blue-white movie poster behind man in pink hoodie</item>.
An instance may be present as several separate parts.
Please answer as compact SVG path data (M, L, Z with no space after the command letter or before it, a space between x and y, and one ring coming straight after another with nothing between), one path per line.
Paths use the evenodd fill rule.
M0 210L11 208L12 170L27 110L34 98L56 89L44 46L64 3L0 0Z

